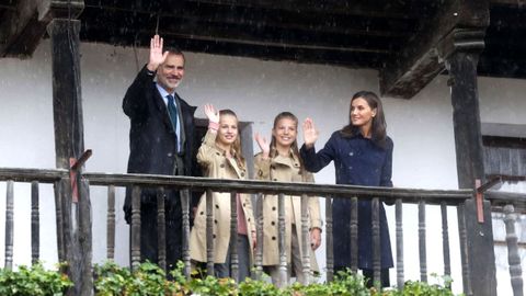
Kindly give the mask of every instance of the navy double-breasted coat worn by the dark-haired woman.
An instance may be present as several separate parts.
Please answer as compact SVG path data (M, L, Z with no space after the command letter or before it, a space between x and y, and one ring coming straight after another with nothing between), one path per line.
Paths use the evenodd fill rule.
M300 149L305 167L318 172L334 161L336 184L364 186L392 186L392 140L388 137L386 147L377 146L361 134L345 138L334 132L323 149ZM350 196L346 196L350 197ZM351 266L351 200L333 200L334 269ZM392 267L391 243L386 212L380 203L381 269ZM373 269L371 203L358 202L358 267Z

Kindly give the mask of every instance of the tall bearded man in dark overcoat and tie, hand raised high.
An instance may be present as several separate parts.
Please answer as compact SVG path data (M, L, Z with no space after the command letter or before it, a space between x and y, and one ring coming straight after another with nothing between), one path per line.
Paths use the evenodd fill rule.
M195 167L195 106L175 88L184 76L184 56L162 52L158 35L150 42L148 64L139 71L123 100L130 119L128 173L192 175ZM158 262L157 191L142 189L140 204L141 261ZM165 191L167 267L182 259L182 209L178 191ZM126 190L125 218L132 221L132 189Z

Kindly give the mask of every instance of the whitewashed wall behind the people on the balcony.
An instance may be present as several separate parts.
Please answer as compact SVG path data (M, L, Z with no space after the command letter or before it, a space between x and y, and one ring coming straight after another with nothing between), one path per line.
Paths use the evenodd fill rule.
M121 109L122 98L147 52L98 44L81 46L81 78L85 148L93 149L87 170L125 172L129 122ZM136 59L138 62L136 62ZM263 61L252 58L186 53L186 73L179 93L191 104L213 103L253 122L254 132L270 135L274 116L291 111L299 118L311 116L320 129L318 147L347 122L348 101L358 90L378 92L377 72L342 67ZM54 168L54 132L49 42L27 60L0 59L0 167ZM526 124L526 81L480 78L481 118L488 123ZM456 159L451 105L446 77L436 78L412 100L384 99L388 134L395 140L393 182L400 187L456 189ZM199 107L196 115L204 117ZM256 150L256 149L255 149ZM333 183L331 166L316 175L319 183ZM16 185L14 261L27 264L30 247L28 186ZM105 190L92 187L94 260L105 257ZM117 202L117 261L128 261L128 227ZM0 185L0 265L4 257L4 184ZM43 240L41 257L56 262L53 190L45 186L41 200ZM395 216L388 207L393 255ZM443 273L439 210L427 209L427 270ZM418 213L404 208L405 277L418 280ZM461 288L456 210L449 210L453 277ZM324 246L318 251L324 262ZM323 263L322 263L323 265ZM391 270L391 283L396 283ZM507 283L503 283L508 285ZM500 286L500 291L502 287ZM504 292L503 292L504 293ZM502 295L505 295L502 294Z

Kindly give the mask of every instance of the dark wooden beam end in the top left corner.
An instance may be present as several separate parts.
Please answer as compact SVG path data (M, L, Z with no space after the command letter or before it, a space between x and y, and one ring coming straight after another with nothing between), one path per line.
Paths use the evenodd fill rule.
M53 18L76 18L82 5L82 0L20 0L0 22L0 57L30 57Z

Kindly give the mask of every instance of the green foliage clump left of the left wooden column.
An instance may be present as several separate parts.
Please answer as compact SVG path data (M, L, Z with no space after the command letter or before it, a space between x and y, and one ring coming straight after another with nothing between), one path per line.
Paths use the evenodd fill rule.
M66 274L46 271L41 263L18 271L0 269L0 295L62 295L73 284Z

